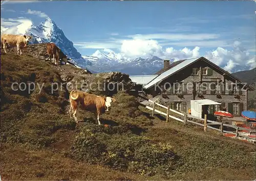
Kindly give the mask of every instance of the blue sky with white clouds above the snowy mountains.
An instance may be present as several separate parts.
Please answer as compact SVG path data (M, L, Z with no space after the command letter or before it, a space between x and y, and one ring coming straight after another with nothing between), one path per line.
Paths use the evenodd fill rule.
M104 48L137 55L196 46L204 55L218 47L231 51L235 41L255 55L255 5L253 1L25 1L6 2L1 17L22 16L38 25L49 16L82 55ZM28 9L34 13L28 14ZM132 43L134 39L145 41Z

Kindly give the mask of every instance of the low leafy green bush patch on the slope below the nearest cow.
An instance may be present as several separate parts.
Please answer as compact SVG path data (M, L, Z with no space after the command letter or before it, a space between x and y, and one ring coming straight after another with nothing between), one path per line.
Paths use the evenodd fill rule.
M127 126L84 125L76 136L71 156L142 175L169 174L175 168L175 154L169 144L154 143L132 133Z

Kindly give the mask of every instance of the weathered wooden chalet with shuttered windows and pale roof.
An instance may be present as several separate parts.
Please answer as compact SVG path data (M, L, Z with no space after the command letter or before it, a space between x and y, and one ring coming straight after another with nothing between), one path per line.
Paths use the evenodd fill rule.
M210 99L209 113L224 110L240 116L253 88L204 57L169 63L154 75L130 76L147 98L161 97L172 109L188 112L190 100Z

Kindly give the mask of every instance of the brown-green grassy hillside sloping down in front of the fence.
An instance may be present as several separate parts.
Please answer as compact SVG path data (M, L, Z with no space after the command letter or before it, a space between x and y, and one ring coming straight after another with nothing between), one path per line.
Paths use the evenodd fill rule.
M52 82L65 83L59 69L26 54L1 55L2 179L255 178L255 144L151 117L125 91L114 94L117 101L101 116L109 127L86 111L78 112L83 122L76 124L66 112L65 86L51 93ZM15 82L45 84L40 93L38 87L28 93L12 90Z

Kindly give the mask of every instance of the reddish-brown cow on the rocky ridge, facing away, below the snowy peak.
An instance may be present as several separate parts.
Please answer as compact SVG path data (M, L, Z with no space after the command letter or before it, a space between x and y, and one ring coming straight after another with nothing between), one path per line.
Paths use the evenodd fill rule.
M47 44L47 53L49 55L49 58L47 60L49 60L50 58L53 58L55 65L59 64L59 59L61 59L62 61L68 62L67 56L63 54L61 49L58 46L56 46L55 43Z

